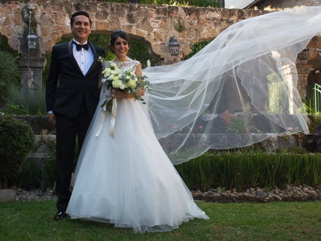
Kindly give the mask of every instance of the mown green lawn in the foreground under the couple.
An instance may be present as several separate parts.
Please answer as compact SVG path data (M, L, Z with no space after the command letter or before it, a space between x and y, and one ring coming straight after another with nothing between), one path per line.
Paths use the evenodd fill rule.
M0 204L2 241L14 240L321 240L321 202L206 203L209 220L163 233L134 233L111 224L54 221L55 200Z

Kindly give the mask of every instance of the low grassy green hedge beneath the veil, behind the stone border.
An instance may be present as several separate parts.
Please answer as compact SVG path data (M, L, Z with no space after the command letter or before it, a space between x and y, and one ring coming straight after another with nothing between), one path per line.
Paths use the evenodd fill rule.
M316 186L321 183L321 155L289 152L223 152L204 155L175 166L190 189L207 191L225 187L279 188L287 184Z

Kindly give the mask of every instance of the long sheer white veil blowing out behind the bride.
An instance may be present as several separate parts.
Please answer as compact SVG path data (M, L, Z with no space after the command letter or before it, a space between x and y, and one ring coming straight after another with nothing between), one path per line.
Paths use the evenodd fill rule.
M174 164L209 149L308 133L297 53L321 32L321 7L243 20L192 58L143 70L154 132Z

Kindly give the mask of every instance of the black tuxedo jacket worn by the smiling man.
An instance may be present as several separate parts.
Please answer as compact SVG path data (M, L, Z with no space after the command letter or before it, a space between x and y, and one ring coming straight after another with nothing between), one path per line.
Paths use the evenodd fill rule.
M53 47L46 84L47 111L52 110L55 114L74 118L79 113L84 98L88 114L92 117L99 100L98 76L101 63L98 62L98 56L105 56L105 52L89 43L94 62L84 76L74 58L72 45L70 41Z

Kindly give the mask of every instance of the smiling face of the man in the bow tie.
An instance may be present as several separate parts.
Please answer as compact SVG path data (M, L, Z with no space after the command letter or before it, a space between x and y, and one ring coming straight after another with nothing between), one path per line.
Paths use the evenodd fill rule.
M89 19L84 15L76 16L71 26L74 39L83 44L91 33Z

